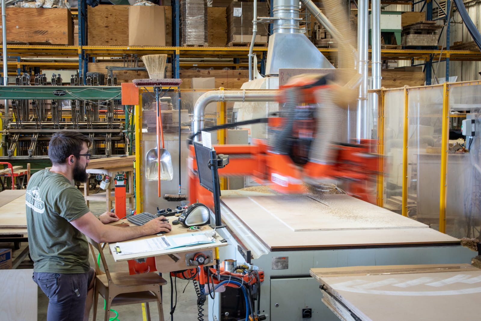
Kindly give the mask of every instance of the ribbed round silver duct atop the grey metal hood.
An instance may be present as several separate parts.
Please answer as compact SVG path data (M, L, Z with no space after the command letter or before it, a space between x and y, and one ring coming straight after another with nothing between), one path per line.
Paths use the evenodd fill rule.
M299 0L276 0L272 33L299 33Z

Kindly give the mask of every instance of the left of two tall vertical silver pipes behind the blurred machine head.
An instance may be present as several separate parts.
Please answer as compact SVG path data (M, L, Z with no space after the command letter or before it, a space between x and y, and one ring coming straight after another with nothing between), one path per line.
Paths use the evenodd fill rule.
M356 115L356 139L357 141L368 138L369 114L367 111L367 64L368 51L368 0L357 2L357 51L359 55L359 74L361 84L359 86L359 97L357 101Z

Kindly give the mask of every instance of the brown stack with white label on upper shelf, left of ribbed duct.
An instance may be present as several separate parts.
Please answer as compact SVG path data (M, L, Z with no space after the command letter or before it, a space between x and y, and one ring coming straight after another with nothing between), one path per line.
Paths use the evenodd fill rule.
M252 40L253 3L232 1L227 8L227 43L228 46L250 44ZM267 2L257 2L257 17L269 16ZM256 18L257 18L256 17ZM258 24L255 43L267 42L267 29Z

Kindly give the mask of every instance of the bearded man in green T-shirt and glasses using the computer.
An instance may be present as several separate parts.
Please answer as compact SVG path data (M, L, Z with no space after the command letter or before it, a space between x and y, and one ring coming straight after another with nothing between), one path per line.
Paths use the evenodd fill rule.
M168 232L172 226L163 216L142 226L105 225L119 218L110 212L96 218L74 186L74 181L87 183L89 177L89 139L59 131L48 151L52 167L33 174L25 194L32 278L49 297L47 321L88 320L95 272L85 235L98 243L119 242Z

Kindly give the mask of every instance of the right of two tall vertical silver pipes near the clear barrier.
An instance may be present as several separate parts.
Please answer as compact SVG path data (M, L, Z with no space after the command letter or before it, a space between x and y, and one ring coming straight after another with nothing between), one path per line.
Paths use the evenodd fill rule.
M372 28L371 28L371 37L372 37L372 89L380 89L381 88L381 1L380 0L371 0L371 17L372 17ZM378 94L373 93L371 94L371 111L372 111L372 120L373 120L373 127L377 128L378 124Z

